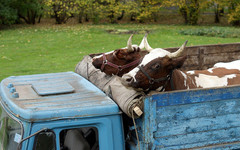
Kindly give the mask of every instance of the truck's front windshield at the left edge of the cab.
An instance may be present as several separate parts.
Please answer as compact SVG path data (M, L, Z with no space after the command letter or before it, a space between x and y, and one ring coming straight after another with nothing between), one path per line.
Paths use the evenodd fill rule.
M21 137L21 124L0 107L0 149L16 150Z

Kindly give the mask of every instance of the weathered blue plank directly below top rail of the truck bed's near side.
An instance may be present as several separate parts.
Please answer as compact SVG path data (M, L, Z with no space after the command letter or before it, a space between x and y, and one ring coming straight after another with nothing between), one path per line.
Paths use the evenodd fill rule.
M240 100L223 100L213 102L202 102L187 105L176 105L169 107L158 107L158 124L175 122L175 120L190 120L195 118L216 117L226 114L240 114Z

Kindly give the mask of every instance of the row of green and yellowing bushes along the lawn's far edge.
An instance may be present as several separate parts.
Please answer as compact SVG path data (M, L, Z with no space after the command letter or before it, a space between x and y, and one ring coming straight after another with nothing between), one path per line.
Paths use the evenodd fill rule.
M35 24L44 12L57 24L71 17L78 17L79 23L118 23L123 18L149 23L157 22L162 10L170 7L170 11L178 10L186 24L198 24L201 12L208 9L214 11L216 23L223 15L221 11L226 11L229 23L239 25L239 5L239 0L0 0L0 24L12 24L19 18Z

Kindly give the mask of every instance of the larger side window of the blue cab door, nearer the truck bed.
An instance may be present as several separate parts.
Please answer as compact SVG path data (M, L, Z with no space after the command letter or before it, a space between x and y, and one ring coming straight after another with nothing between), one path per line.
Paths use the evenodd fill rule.
M99 150L95 127L66 129L60 132L61 150Z

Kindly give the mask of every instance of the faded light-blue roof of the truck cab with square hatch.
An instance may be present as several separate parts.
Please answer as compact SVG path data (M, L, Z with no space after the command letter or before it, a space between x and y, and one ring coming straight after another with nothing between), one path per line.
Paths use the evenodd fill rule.
M65 89L74 91L64 91ZM46 96L38 94L32 85L41 85L47 90L53 89ZM56 84L55 84L56 83ZM59 85L58 88L56 85ZM68 86L70 85L70 86ZM10 92L15 88L15 94ZM70 87L70 88L69 88ZM40 89L40 88L39 88ZM58 91L59 90L59 91ZM53 95L52 95L53 94ZM50 73L9 77L1 82L2 103L16 117L26 121L55 120L74 117L89 117L118 114L118 106L101 90L73 72Z

